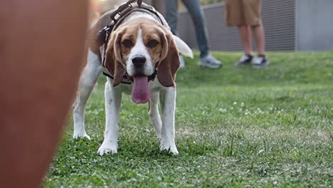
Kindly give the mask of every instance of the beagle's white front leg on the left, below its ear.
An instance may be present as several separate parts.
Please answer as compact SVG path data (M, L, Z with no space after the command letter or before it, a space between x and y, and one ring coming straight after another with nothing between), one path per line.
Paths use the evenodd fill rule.
M122 91L118 88L113 88L113 83L110 78L107 78L105 83L105 113L106 125L104 132L104 141L98 149L99 155L108 153L117 153L118 136L119 136L119 113L120 103L122 100Z

